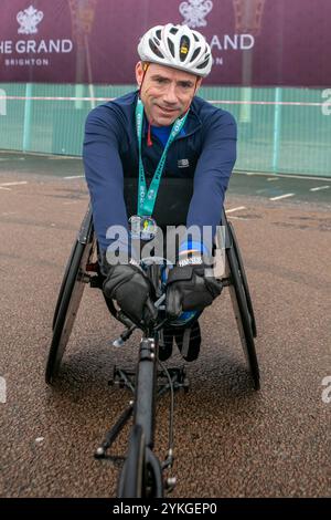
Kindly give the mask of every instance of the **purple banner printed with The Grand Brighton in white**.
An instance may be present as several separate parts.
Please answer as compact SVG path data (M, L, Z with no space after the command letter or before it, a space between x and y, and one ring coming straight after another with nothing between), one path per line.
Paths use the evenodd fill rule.
M131 84L139 38L204 34L205 84L331 87L331 0L2 0L0 82Z

